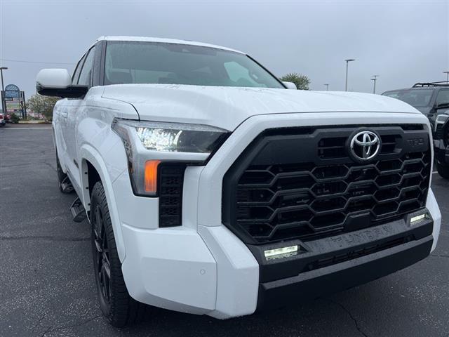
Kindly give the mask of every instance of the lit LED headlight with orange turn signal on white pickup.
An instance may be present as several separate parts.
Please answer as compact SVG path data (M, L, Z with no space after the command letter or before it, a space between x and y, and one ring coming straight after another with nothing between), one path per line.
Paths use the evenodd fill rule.
M229 131L200 124L114 119L128 157L131 185L137 195L155 196L157 169L163 161L203 164Z

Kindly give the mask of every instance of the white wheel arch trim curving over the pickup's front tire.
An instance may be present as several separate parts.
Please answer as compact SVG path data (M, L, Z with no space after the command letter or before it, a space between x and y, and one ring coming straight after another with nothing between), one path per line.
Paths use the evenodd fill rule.
M87 212L91 210L91 191L95 183L100 181L105 189L107 205L109 207L109 214L111 216L112 229L114 230L114 237L119 253L120 261L123 262L126 256L125 245L123 243L123 234L121 232L121 222L119 212L116 208L116 200L114 190L105 161L103 161L100 153L91 145L82 145L79 156L81 158L81 185L83 188L83 195L79 196L83 202L83 206Z

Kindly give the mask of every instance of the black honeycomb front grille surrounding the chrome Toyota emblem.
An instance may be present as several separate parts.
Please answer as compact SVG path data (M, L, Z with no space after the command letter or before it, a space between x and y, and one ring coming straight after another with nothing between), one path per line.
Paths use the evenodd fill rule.
M427 131L365 129L382 139L380 154L367 164L347 154L348 138L360 128L262 133L225 175L223 223L249 244L307 241L424 207L431 169Z

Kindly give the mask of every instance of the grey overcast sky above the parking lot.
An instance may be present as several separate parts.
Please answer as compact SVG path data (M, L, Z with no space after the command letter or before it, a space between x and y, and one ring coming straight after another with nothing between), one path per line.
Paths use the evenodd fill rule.
M312 90L377 93L445 80L449 1L6 1L0 0L5 84L29 97L37 72L74 63L102 35L168 37L236 48ZM20 60L27 62L13 62ZM32 62L48 62L32 63ZM58 63L68 63L58 64Z

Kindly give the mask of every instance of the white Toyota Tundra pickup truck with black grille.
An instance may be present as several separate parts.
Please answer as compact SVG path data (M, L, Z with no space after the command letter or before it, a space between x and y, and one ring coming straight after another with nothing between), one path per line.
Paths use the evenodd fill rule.
M114 326L156 307L226 319L427 257L441 224L429 120L381 95L298 91L192 41L102 37L36 88L62 97L61 192L88 218Z

